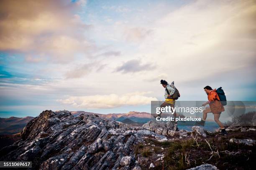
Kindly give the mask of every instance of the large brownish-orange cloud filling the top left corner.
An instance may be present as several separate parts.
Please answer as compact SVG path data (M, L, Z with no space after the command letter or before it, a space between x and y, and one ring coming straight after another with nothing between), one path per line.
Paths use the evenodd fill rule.
M79 11L85 1L2 0L0 2L0 50L21 52L26 60L67 61L93 44L84 36L90 28ZM33 56L36 55L36 59Z

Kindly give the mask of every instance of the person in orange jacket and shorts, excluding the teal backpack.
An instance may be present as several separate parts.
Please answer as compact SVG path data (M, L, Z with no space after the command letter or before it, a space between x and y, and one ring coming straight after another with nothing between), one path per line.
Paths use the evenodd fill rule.
M204 104L202 104L202 106L204 107L205 105L209 104L210 107L205 108L205 110L203 111L202 120L200 122L196 122L196 123L198 125L204 126L205 120L207 117L207 113L212 112L212 114L214 115L215 122L218 123L218 125L220 126L221 135L227 135L228 133L226 132L223 124L219 120L221 112L223 112L225 109L220 102L220 97L218 96L216 89L213 90L212 87L207 85L204 87L204 90L205 90L206 94L208 95L208 101L205 102Z

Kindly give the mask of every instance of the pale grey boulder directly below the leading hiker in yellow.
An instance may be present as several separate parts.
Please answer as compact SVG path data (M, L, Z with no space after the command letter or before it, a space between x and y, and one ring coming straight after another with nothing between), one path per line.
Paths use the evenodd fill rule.
M172 121L162 122L162 121L153 121L150 120L149 122L142 125L144 129L150 130L155 132L159 135L168 136L169 130L177 130L177 124Z

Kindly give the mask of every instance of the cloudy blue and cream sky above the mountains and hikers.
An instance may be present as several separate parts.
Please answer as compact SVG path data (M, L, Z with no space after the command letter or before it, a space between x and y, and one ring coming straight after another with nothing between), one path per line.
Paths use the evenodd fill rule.
M164 100L256 101L255 0L1 0L0 117L150 112Z

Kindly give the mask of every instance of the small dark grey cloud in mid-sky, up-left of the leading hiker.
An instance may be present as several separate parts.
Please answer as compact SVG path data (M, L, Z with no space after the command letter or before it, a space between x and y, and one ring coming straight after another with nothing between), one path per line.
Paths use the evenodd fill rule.
M116 69L117 72L140 72L145 70L152 70L156 66L152 63L142 64L141 60L129 60Z

